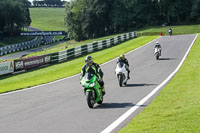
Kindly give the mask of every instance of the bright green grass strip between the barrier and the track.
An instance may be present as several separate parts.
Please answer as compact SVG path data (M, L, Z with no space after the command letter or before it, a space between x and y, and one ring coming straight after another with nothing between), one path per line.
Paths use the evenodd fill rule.
M155 38L157 38L157 36L135 38L120 45L95 52L90 55L94 57L95 62L102 64L106 61L116 58L122 53L126 53L137 47L140 47ZM1 77L0 93L44 84L80 73L84 64L84 58L85 57L81 57L72 61L29 71L26 73Z

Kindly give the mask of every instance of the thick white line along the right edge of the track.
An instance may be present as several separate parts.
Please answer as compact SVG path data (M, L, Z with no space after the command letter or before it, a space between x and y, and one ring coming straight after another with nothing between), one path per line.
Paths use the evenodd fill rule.
M115 120L112 124L110 124L106 129L101 131L101 133L110 133L112 130L114 130L120 123L122 123L126 118L128 118L134 111L136 111L141 105L143 105L150 97L152 97L159 89L161 89L180 69L181 65L184 63L188 53L190 52L190 49L192 48L198 34L196 34L194 40L192 41L190 47L188 48L187 52L185 53L185 56L181 60L178 67L165 79L160 85L158 85L152 92L150 92L147 96L145 96L141 101L139 101L135 106L130 108L127 112L125 112L123 115L121 115L117 120Z

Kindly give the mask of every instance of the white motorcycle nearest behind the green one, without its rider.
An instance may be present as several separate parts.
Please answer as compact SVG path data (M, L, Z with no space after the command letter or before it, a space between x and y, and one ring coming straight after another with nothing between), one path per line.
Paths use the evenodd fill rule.
M115 68L115 74L119 81L119 86L126 85L128 81L128 71L126 70L126 64L124 62L118 62Z

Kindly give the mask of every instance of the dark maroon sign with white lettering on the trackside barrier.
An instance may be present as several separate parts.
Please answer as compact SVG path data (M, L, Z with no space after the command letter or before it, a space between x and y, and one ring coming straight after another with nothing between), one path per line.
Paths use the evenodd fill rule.
M27 70L27 69L32 69L32 68L44 65L44 64L48 64L50 62L51 62L50 55L37 56L37 57L15 60L14 67L15 67L15 71Z

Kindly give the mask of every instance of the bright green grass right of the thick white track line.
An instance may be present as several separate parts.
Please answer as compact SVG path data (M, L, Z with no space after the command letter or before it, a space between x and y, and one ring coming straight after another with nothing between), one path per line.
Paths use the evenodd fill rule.
M200 132L200 36L159 96L119 133Z

